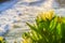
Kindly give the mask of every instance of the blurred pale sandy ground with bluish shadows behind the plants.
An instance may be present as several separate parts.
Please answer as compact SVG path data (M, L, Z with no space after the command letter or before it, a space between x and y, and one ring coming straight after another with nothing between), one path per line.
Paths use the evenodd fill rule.
M65 0L0 0L0 35L9 43L22 41L29 30L26 22L35 23L37 14L48 10L65 16Z

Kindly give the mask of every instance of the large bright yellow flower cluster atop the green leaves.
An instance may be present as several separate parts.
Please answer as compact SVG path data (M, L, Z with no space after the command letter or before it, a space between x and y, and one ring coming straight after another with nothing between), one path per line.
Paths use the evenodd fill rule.
M42 12L39 15L43 20L47 20L47 19L51 20L54 16L54 11Z

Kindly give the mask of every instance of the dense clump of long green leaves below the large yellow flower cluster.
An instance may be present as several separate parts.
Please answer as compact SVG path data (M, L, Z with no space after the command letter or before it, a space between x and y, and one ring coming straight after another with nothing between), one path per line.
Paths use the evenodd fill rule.
M54 16L46 22L37 16L36 24L26 24L30 31L25 32L23 38L30 39L30 43L65 43L65 17Z

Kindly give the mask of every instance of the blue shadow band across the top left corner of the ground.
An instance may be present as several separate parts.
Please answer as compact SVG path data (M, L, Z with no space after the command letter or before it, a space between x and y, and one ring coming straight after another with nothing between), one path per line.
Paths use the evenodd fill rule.
M2 11L5 11L6 9L12 8L18 0L10 0L10 1L5 1L0 3L0 13Z

